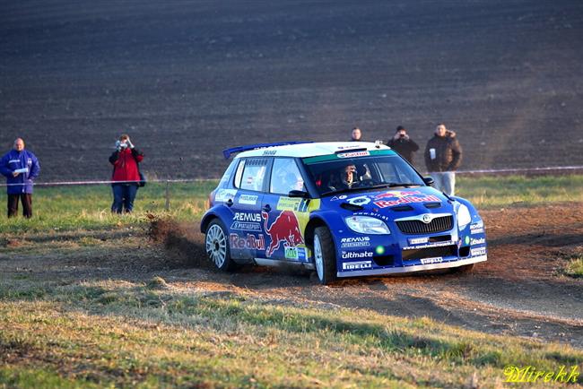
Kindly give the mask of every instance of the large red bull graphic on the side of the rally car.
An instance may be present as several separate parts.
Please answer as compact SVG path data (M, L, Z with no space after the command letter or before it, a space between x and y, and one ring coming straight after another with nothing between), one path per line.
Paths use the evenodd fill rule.
M265 233L271 239L266 256L271 256L274 251L280 248L281 243L288 247L302 245L304 238L301 236L300 223L295 213L292 211L282 211L277 218L269 225L269 214L261 212L264 219Z

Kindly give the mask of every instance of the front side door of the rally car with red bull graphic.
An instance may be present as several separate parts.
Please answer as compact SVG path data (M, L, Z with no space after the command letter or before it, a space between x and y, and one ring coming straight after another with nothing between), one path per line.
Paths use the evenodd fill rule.
M308 262L303 231L309 220L309 200L289 197L292 190L306 191L296 160L274 158L261 210L265 229L265 258Z

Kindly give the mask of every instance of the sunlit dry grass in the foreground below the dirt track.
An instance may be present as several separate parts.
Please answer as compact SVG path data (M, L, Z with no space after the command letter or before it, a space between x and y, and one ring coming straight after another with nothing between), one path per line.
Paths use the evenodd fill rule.
M496 387L507 364L583 363L564 345L427 318L278 306L161 277L4 279L0 328L0 383L8 386Z

